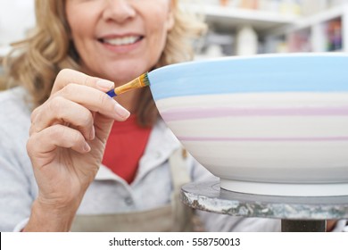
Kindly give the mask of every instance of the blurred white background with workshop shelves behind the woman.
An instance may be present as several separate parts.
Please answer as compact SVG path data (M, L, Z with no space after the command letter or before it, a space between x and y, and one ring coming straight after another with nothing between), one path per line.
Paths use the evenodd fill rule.
M183 8L209 24L195 42L195 60L348 51L348 0L200 0ZM0 61L34 25L34 0L0 0Z

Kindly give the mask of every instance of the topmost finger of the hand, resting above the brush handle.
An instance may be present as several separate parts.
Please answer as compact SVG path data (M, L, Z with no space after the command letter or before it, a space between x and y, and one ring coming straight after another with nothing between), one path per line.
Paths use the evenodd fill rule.
M87 87L95 87L103 92L107 92L114 87L113 82L110 80L90 77L87 74L79 71L64 69L58 73L54 81L52 93L59 91L70 83L76 83Z

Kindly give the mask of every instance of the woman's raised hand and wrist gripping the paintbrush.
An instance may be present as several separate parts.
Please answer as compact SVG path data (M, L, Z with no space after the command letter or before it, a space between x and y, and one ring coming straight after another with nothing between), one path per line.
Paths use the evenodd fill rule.
M113 121L129 116L104 93L112 87L111 81L63 70L49 99L32 112L27 151L39 192L26 230L70 229L102 162Z

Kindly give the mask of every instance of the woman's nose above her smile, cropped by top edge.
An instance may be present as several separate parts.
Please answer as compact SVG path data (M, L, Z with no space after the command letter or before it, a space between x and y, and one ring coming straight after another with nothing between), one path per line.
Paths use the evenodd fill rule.
M107 21L122 23L136 15L136 11L129 0L107 0L103 17Z

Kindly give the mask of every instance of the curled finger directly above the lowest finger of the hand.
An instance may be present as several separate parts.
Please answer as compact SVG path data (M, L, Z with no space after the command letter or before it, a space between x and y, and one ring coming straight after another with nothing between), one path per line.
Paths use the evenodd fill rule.
M92 140L95 137L93 120L92 112L87 108L62 96L56 96L32 115L30 135L53 124L69 123L70 127L78 129L86 139Z

